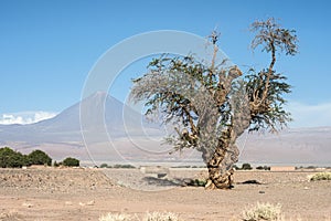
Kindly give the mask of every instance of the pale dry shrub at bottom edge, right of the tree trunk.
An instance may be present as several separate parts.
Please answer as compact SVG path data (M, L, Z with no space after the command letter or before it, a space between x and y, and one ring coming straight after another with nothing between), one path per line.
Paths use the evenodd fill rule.
M243 211L243 220L245 221L259 221L269 220L277 221L281 220L281 206L271 203L259 203Z

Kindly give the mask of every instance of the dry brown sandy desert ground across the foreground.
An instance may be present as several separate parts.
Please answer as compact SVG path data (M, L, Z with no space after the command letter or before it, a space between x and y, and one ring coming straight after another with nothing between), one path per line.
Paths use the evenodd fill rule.
M169 211L180 220L242 220L256 202L280 203L285 220L331 220L331 182L316 171L236 171L232 190L183 187L199 169L152 178L138 169L0 169L0 220L98 220L108 212ZM256 183L243 183L256 180ZM181 183L182 182L182 183Z

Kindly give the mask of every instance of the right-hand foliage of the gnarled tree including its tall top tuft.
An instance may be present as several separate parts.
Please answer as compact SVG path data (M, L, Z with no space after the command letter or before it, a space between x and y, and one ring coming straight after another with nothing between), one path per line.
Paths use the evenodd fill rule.
M274 18L255 21L250 31L256 35L252 49L261 46L261 51L270 53L271 61L267 69L256 72L252 69L246 76L246 91L250 104L250 130L270 129L277 131L291 120L290 114L284 109L284 94L290 93L290 85L282 74L274 70L277 54L295 55L298 52L296 31L281 28Z

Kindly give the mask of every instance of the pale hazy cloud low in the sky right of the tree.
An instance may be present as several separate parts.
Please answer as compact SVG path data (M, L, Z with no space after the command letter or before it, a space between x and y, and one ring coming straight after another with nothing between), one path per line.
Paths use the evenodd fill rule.
M331 126L331 103L308 105L290 102L287 109L295 119L291 127L321 127Z

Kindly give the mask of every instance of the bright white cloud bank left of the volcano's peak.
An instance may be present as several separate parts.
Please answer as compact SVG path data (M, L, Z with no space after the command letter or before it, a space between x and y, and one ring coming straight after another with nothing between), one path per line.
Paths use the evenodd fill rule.
M56 113L52 112L22 112L22 113L10 113L0 115L0 124L33 124L43 119L49 119L56 116Z

